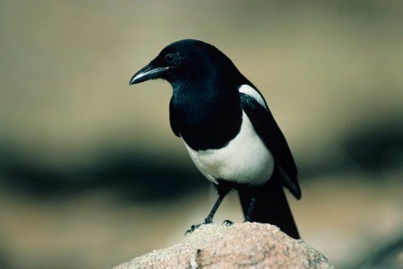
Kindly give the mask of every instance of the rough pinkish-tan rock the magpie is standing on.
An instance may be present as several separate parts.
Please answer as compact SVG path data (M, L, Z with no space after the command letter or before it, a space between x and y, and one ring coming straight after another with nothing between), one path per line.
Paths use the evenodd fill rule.
M154 250L114 269L334 268L320 252L262 223L206 224L175 246Z

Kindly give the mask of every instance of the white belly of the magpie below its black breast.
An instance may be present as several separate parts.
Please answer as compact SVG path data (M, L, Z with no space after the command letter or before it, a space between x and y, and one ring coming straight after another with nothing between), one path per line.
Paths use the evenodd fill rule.
M244 112L242 116L241 130L227 147L195 151L184 142L193 163L213 183L221 179L262 185L270 179L273 156L256 134L248 116Z

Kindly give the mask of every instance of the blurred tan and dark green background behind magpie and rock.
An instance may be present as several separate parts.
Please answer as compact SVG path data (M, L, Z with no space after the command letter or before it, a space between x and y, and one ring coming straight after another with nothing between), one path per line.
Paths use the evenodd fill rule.
M111 268L184 239L216 194L170 130L173 41L219 47L296 158L301 235L339 268L403 264L400 1L0 1L0 268ZM242 222L236 193L216 223Z

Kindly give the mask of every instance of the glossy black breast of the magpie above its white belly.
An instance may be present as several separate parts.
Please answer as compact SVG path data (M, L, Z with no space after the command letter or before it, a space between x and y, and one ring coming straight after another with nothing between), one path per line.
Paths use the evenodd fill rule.
M192 101L191 101L192 100ZM171 99L170 119L187 146L196 151L225 147L242 124L236 96L176 97Z

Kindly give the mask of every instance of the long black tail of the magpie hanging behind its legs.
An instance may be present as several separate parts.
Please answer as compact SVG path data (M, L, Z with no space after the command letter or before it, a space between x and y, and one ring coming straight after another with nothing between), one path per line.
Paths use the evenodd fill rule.
M253 196L256 202L253 206L250 221L254 223L270 223L276 225L288 236L300 239L296 222L288 206L279 173L273 175L263 187L238 189L244 215L247 214Z

